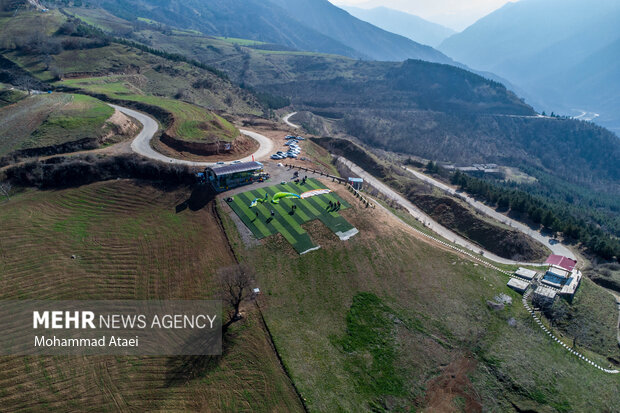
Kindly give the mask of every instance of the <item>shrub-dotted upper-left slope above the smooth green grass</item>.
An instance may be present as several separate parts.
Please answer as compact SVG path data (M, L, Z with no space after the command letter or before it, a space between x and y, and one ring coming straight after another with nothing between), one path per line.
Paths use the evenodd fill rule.
M33 28L24 33L24 28ZM123 76L134 92L180 98L207 109L260 114L254 96L214 71L115 43L58 10L0 13L2 54L44 81Z

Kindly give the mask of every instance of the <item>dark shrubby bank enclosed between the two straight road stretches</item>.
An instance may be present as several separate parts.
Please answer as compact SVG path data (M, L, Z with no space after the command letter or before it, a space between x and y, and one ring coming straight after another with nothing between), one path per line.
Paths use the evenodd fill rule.
M519 231L493 225L452 198L428 194L409 194L419 206L441 225L468 238L500 257L515 261L539 261L546 249Z

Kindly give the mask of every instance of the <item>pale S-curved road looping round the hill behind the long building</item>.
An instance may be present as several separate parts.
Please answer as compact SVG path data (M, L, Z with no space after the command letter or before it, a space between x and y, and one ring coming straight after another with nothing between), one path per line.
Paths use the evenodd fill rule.
M166 155L163 155L157 152L155 149L151 147L151 139L153 139L153 136L155 135L155 133L157 133L157 130L159 129L159 125L157 124L157 121L155 119L153 119L152 117L148 115L145 115L144 113L141 113L141 112L138 112L132 109L128 109L122 106L117 106L117 105L110 105L110 106L123 112L125 115L135 118L138 122L142 124L142 130L140 131L138 136L136 136L134 140L131 142L131 149L137 154L140 154L150 159L155 159L157 161L189 165L189 166L205 167L205 166L212 166L216 164L216 162L194 162L194 161L186 161L182 159L170 158ZM257 140L258 143L260 144L260 147L258 148L258 150L254 152L253 154L254 159L258 160L258 159L267 157L273 151L273 141L267 138L266 136L263 136L256 132L243 130L243 129L241 129L240 132L243 133L244 135L247 135ZM245 158L241 158L238 160L242 162L251 161L252 155L246 156Z

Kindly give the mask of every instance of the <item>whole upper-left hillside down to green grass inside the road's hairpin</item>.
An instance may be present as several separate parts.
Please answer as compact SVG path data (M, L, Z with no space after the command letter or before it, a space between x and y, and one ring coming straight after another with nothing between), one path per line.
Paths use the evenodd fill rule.
M42 25L49 36L40 46L35 40L31 45L20 31L23 25L33 24ZM261 113L252 95L208 70L110 43L92 30L72 23L58 11L43 17L23 12L14 18L4 17L0 24L0 33L11 46L4 56L39 80L159 107L171 114L165 125L171 136L189 141L232 141L239 132L209 109ZM55 53L41 53L49 48Z

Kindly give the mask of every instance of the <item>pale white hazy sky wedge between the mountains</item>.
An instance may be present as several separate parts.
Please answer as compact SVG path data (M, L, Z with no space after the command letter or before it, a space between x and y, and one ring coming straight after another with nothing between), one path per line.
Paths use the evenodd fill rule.
M415 14L461 31L467 26L515 0L330 0L336 5L370 9L385 6Z

